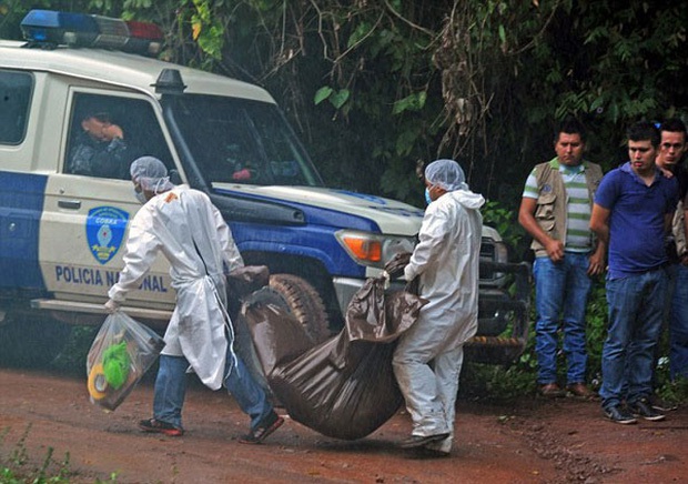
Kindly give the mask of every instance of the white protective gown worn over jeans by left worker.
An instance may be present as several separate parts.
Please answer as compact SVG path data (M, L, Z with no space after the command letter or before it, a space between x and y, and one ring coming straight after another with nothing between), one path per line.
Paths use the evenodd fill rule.
M231 231L208 195L176 186L145 203L133 218L124 270L110 292L122 302L139 288L159 251L170 261L176 307L163 354L184 356L201 381L219 390L227 354L224 273L243 265ZM226 264L226 268L223 268Z

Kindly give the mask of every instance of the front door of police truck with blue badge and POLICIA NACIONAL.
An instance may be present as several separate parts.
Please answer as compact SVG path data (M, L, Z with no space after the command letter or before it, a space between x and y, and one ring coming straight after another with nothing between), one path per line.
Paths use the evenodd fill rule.
M169 169L174 164L146 98L72 89L68 104L60 169L45 186L39 260L57 299L102 303L122 269L127 228L140 208L129 165L142 155L159 158ZM105 132L121 137L109 140L101 135ZM168 271L161 255L128 305L170 309L174 291Z

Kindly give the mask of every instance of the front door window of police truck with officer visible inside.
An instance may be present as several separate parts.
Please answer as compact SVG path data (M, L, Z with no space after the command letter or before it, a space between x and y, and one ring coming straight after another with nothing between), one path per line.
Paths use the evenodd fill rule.
M152 107L144 100L77 93L65 152L64 172L130 180L139 157L174 163Z

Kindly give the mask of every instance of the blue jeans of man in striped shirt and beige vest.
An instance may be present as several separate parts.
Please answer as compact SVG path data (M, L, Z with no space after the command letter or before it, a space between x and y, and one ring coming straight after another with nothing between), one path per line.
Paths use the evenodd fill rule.
M566 252L558 263L549 258L536 258L535 276L535 352L539 384L557 381L557 341L559 321L564 327L564 353L568 371L567 383L585 382L587 353L585 349L585 309L591 281L587 274L588 254Z

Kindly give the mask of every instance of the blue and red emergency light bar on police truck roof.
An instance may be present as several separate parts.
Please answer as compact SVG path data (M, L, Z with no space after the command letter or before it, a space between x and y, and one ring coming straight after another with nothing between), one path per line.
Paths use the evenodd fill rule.
M31 10L21 21L29 47L83 47L156 56L164 37L154 23L103 16Z

